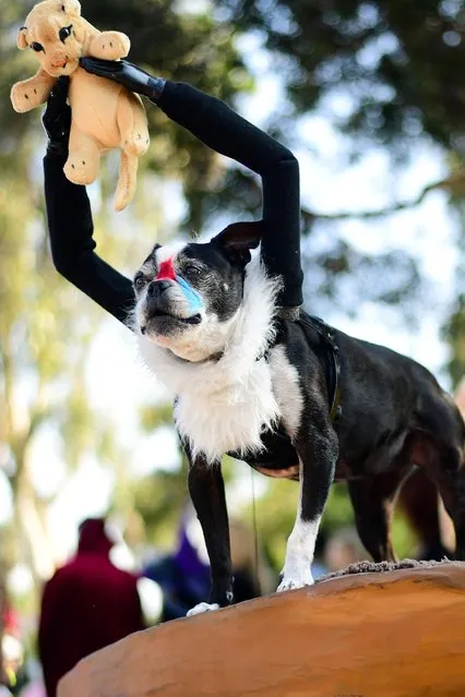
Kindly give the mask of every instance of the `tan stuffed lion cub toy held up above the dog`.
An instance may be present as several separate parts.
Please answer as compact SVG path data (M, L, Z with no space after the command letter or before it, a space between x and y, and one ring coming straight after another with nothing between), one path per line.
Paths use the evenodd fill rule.
M17 33L17 47L29 47L40 62L34 77L16 83L11 101L24 112L44 104L58 77L70 77L72 110L67 178L90 184L98 175L100 154L121 148L115 208L122 211L135 191L139 156L148 147L145 110L139 95L80 68L82 56L118 60L130 40L120 32L99 32L81 16L78 0L36 4Z

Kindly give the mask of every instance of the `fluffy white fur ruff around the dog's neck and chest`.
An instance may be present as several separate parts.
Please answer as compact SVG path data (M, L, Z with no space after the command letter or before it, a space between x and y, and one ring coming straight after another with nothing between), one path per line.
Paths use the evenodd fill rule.
M250 267L250 268L249 268ZM260 263L248 267L242 305L218 361L190 363L140 336L141 354L176 396L176 425L207 461L261 447L261 433L283 418L290 431L301 412L297 371L283 347L257 360L273 336L276 283ZM290 393L289 393L290 390ZM286 393L291 394L286 397ZM289 409L291 407L291 409Z

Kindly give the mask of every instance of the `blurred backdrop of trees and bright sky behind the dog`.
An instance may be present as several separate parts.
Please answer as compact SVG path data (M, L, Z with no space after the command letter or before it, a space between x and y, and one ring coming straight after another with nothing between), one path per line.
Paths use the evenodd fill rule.
M32 4L0 0L0 586L20 662L35 656L44 580L72 554L83 518L108 515L119 563L140 569L176 549L187 502L169 397L130 332L50 261L41 110L17 115L9 96L36 71L15 44ZM465 370L465 3L92 0L82 13L127 33L133 62L220 97L293 149L306 309L407 353L455 392ZM254 176L146 109L151 149L129 211L111 208L117 156L90 188L98 251L128 276L155 241L260 216ZM231 460L225 473L230 513L253 544L255 498L261 553L276 574L297 486ZM323 570L365 557L343 484L322 530ZM394 544L400 556L419 544L402 510Z

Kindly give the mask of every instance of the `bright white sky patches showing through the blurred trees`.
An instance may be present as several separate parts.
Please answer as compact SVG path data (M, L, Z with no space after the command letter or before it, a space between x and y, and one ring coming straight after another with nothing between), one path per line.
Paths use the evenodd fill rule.
M261 49L259 35L243 38L240 48L257 77L253 95L238 101L240 112L258 125L263 125L283 99L279 81L273 72L273 61ZM266 105L264 110L263 105ZM326 113L338 113L347 108L344 96L336 96L325 105ZM395 201L415 199L421 189L445 173L445 163L439 149L421 144L412 166L393 176L390 161L381 149L372 149L356 165L341 168L346 146L327 117L308 116L297 124L301 145L295 151L301 169L302 203L322 213L367 211L388 206ZM93 201L98 199L94 185ZM181 216L182 205L172 193L172 211ZM176 217L176 213L175 213ZM176 220L175 220L176 223ZM436 312L418 317L418 328L405 326L398 312L360 303L356 320L348 317L338 307L329 309L324 319L338 328L383 344L424 363L449 387L442 366L446 348L438 335L438 317L453 293L454 226L446 208L445 196L433 192L420 206L375 221L357 219L335 223L343 238L361 251L379 253L386 250L406 250L415 255L433 289ZM379 233L380 232L380 233ZM381 233L382 232L382 233ZM331 228L325 227L325 235ZM155 240L154 240L155 241ZM327 308L327 305L325 305ZM318 313L319 308L307 308ZM112 317L102 312L102 324L90 348L86 369L86 389L92 406L110 418L118 438L131 453L128 468L134 474L146 474L157 467L177 467L177 440L172 429L158 429L153 435L138 428L136 405L166 400L168 396L142 365L135 343ZM47 468L44 470L44 461ZM45 431L33 453L35 480L44 493L52 492L63 480L64 468L57 448L56 434ZM247 468L238 465L239 476L228 491L229 506L234 510L250 500L251 480ZM87 457L67 482L49 510L49 527L58 560L73 549L75 529L87 515L105 513L110 498L114 476L94 458ZM263 480L257 480L260 494ZM0 478L0 512L9 516L4 481Z

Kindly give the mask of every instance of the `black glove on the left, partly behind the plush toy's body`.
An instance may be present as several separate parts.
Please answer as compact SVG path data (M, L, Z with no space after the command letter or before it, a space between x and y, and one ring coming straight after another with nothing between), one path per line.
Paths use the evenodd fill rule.
M71 107L67 103L69 86L69 77L59 77L48 96L41 118L48 137L47 155L68 155L71 128Z

